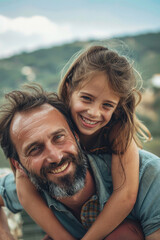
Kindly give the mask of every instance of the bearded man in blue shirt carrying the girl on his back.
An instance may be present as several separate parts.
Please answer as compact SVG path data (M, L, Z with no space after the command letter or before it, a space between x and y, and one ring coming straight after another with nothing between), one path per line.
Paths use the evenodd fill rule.
M7 95L9 103L1 111L0 143L6 157L22 166L62 225L79 239L87 231L88 223L80 220L80 214L88 199L98 199L101 211L112 193L111 156L84 155L63 104L54 94L32 89ZM139 193L128 217L141 222L146 240L160 239L159 182L159 158L140 151ZM0 187L1 205L5 202L13 212L21 210L13 176L3 179ZM106 239L116 239L109 237Z

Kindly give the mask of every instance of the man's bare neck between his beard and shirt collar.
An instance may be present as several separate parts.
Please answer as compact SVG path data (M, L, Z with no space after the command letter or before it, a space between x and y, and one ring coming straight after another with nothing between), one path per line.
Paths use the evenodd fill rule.
M83 204L95 193L95 182L92 174L87 170L85 186L72 197L60 199L59 201L70 208L75 215L79 215Z

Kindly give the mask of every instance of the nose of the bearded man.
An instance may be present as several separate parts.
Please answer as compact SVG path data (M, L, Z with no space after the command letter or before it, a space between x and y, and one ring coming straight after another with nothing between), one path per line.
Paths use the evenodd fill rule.
M49 163L59 163L63 158L63 152L57 146L53 144L48 144L46 148L45 159Z

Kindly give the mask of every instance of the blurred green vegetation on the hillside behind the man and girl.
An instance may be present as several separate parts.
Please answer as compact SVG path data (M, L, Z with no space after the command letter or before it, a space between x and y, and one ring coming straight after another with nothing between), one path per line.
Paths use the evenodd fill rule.
M48 49L40 49L31 53L23 52L10 58L0 60L0 102L4 93L17 89L23 83L34 81L40 83L45 89L57 90L60 72L73 54L81 50L94 40L88 42L73 42ZM160 72L160 33L148 33L137 36L103 40L103 43L116 43L116 48L134 60L135 67L140 71L145 88L152 88L151 77ZM112 45L111 45L112 47ZM160 151L160 90L152 88L154 102L146 103L156 114L156 118L139 115L141 120L151 130L153 140L145 144L144 148L158 154ZM144 107L148 107L147 105ZM0 151L0 167L8 166L2 151Z

